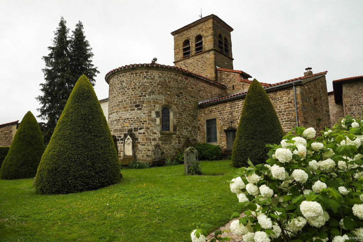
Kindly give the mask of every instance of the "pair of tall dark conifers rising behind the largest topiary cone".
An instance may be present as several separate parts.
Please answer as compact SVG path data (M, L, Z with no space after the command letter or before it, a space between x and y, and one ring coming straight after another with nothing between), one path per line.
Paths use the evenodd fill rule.
M61 17L54 34L53 46L48 47L50 53L42 57L46 66L42 69L45 83L40 84L43 95L36 98L42 105L37 109L40 112L38 117L47 120L46 123L42 123L42 133L46 144L53 134L78 78L86 74L94 86L94 77L99 73L97 67L93 67L92 48L83 34L81 21L76 25L72 38L69 38L66 21Z

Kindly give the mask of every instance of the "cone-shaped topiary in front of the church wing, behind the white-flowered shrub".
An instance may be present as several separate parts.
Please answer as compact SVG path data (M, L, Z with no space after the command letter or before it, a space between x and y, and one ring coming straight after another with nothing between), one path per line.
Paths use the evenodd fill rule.
M264 163L270 150L266 144L280 143L284 131L269 96L253 79L243 104L236 139L233 142L232 162L235 167Z

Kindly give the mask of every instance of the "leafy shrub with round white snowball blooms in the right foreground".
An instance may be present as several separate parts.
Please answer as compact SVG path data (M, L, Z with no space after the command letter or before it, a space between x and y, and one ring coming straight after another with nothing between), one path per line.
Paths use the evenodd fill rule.
M231 231L245 242L363 241L363 120L347 116L317 138L314 128L295 134L268 145L266 164L249 161L231 181L248 208L232 215L239 220ZM194 232L207 235L201 226ZM220 233L211 241L229 241Z

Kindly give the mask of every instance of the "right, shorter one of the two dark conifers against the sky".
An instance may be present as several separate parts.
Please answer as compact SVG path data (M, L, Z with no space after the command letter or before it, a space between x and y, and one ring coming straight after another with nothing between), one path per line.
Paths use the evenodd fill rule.
M94 78L99 71L97 70L97 67L94 67L92 64L92 57L94 54L91 52L92 48L84 35L81 21L76 24L76 29L74 29L72 33L69 50L74 84L81 75L85 74L92 86L94 86Z

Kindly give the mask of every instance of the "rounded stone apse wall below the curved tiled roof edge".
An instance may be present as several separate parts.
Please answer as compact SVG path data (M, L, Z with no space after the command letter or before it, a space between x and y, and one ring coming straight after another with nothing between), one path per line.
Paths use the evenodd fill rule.
M138 161L152 161L156 143L160 143L164 157L173 157L185 139L196 142L200 135L198 101L225 91L182 71L162 67L125 69L108 80L108 124L117 137L119 157L123 157L123 135L132 129ZM171 111L170 132L161 131L160 110L164 106Z

